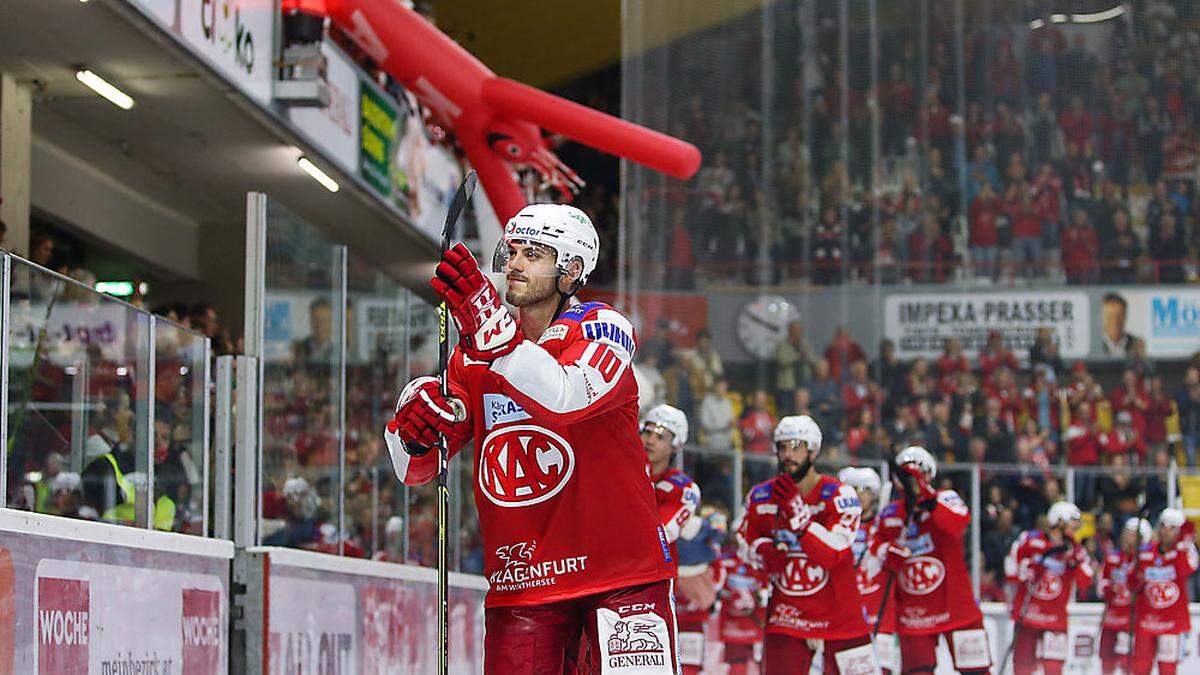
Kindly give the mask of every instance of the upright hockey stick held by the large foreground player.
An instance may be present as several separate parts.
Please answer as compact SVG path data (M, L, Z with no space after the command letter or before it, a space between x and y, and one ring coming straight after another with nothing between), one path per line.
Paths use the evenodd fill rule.
M450 240L454 239L455 225L458 216L467 208L470 195L475 191L475 172L469 172L458 185L458 191L454 193L450 202L450 210L446 213L446 223L442 229L442 257L445 257L450 249ZM443 298L438 303L438 380L442 383L442 398L450 401L450 378L446 370L450 365L450 310ZM466 419L466 411L455 408L455 417ZM450 441L445 434L438 442L438 673L448 675L450 673L450 539L446 532L446 518L450 514L450 488L446 484L446 473L450 464Z

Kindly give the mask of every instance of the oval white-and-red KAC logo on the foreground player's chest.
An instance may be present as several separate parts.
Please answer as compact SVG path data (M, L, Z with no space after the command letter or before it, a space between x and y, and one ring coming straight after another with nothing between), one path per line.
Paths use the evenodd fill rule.
M479 453L479 488L492 503L506 508L553 497L574 472L571 446L562 436L530 424L492 431Z

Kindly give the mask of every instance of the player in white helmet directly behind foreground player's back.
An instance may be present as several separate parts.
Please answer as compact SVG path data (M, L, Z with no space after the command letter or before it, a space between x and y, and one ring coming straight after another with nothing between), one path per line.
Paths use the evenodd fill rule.
M679 663L684 675L698 675L704 665L704 621L720 587L710 565L720 550L713 536L720 534L697 513L700 486L671 466L672 456L688 442L688 416L677 407L658 405L642 418L641 431L659 504L659 521L679 562L676 584Z

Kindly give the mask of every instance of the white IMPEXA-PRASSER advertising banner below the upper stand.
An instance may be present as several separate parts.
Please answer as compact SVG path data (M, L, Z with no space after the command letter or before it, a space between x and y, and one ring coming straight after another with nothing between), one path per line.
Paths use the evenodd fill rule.
M1088 310L1087 294L1074 291L900 293L884 301L884 338L895 342L900 359L934 358L948 338L958 338L973 358L992 330L1027 354L1038 329L1050 328L1063 358L1082 358L1091 348Z

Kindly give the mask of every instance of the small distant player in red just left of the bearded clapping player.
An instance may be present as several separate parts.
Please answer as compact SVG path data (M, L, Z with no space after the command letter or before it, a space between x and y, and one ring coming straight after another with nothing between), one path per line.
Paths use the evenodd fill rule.
M767 621L767 583L762 573L734 555L718 561L724 571L719 634L725 645L730 675L749 675L750 664L762 661L763 625Z

